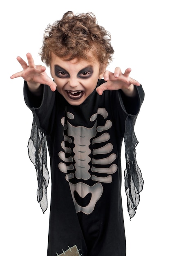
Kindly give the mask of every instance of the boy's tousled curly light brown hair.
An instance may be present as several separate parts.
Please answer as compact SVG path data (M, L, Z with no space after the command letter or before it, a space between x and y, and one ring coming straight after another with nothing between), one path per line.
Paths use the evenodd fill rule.
M49 66L51 52L59 58L70 61L74 58L89 61L88 52L100 63L100 71L112 61L114 50L110 44L111 35L97 24L93 13L74 15L68 11L45 29L41 60ZM91 59L92 61L92 59Z

